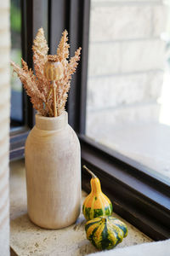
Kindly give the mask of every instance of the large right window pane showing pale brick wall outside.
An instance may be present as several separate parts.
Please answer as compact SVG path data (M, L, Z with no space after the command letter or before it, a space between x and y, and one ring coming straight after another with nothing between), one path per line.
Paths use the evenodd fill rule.
M170 9L92 0L86 134L170 181Z

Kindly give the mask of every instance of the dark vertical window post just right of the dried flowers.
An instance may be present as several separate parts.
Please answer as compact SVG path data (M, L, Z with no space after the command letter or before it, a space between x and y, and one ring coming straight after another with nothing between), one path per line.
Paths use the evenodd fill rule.
M74 42L71 44L71 55L80 46L82 53L77 73L71 81L67 111L69 124L79 134L85 134L86 127L89 15L90 0L71 0L69 34L71 42Z

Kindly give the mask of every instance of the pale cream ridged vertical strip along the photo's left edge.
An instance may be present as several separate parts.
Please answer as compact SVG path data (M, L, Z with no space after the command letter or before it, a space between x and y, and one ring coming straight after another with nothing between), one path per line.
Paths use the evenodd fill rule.
M9 255L8 132L9 132L9 1L0 1L0 255Z

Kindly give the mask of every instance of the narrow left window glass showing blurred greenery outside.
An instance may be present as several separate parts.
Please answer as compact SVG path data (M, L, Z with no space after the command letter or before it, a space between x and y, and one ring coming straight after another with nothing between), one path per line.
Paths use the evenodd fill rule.
M21 12L20 0L11 0L11 60L20 65L21 58ZM11 127L18 126L23 121L22 84L13 75L11 67Z

